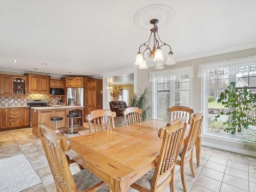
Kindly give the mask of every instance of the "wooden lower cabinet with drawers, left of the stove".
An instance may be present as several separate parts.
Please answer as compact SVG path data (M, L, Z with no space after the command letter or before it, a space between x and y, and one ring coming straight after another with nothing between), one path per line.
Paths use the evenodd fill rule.
M0 108L0 131L29 127L29 107Z

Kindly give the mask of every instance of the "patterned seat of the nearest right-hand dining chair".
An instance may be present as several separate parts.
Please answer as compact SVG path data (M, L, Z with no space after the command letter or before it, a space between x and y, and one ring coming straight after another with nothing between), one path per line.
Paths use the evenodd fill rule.
M150 190L151 189L151 184L152 184L152 179L154 176L155 168L151 169L149 172L147 172L145 175L143 175L140 179L135 181L136 184ZM157 185L160 185L169 175L165 175L163 178L161 178Z

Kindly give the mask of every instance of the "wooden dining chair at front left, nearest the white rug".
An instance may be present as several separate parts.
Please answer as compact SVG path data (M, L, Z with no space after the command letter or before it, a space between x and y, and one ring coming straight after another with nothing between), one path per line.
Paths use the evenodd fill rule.
M56 191L108 190L104 182L86 168L72 176L65 154L71 148L69 139L61 135L58 130L50 129L46 123L38 125L40 126L40 139L53 175Z

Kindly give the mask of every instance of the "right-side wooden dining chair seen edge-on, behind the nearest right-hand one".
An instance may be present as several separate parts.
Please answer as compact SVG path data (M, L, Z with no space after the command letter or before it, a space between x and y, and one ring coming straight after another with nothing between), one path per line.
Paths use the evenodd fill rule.
M199 130L203 122L203 112L199 112L190 118L190 129L185 144L181 146L177 165L180 165L180 176L184 192L187 191L185 180L185 164L189 161L192 176L195 178L193 167L193 150L197 140Z

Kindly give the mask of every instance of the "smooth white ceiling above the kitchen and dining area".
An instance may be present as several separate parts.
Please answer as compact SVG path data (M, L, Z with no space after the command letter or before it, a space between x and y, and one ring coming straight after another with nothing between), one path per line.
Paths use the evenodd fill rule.
M129 68L150 33L133 16L151 4L176 11L159 34L177 60L256 47L255 0L0 0L0 68L59 75Z

